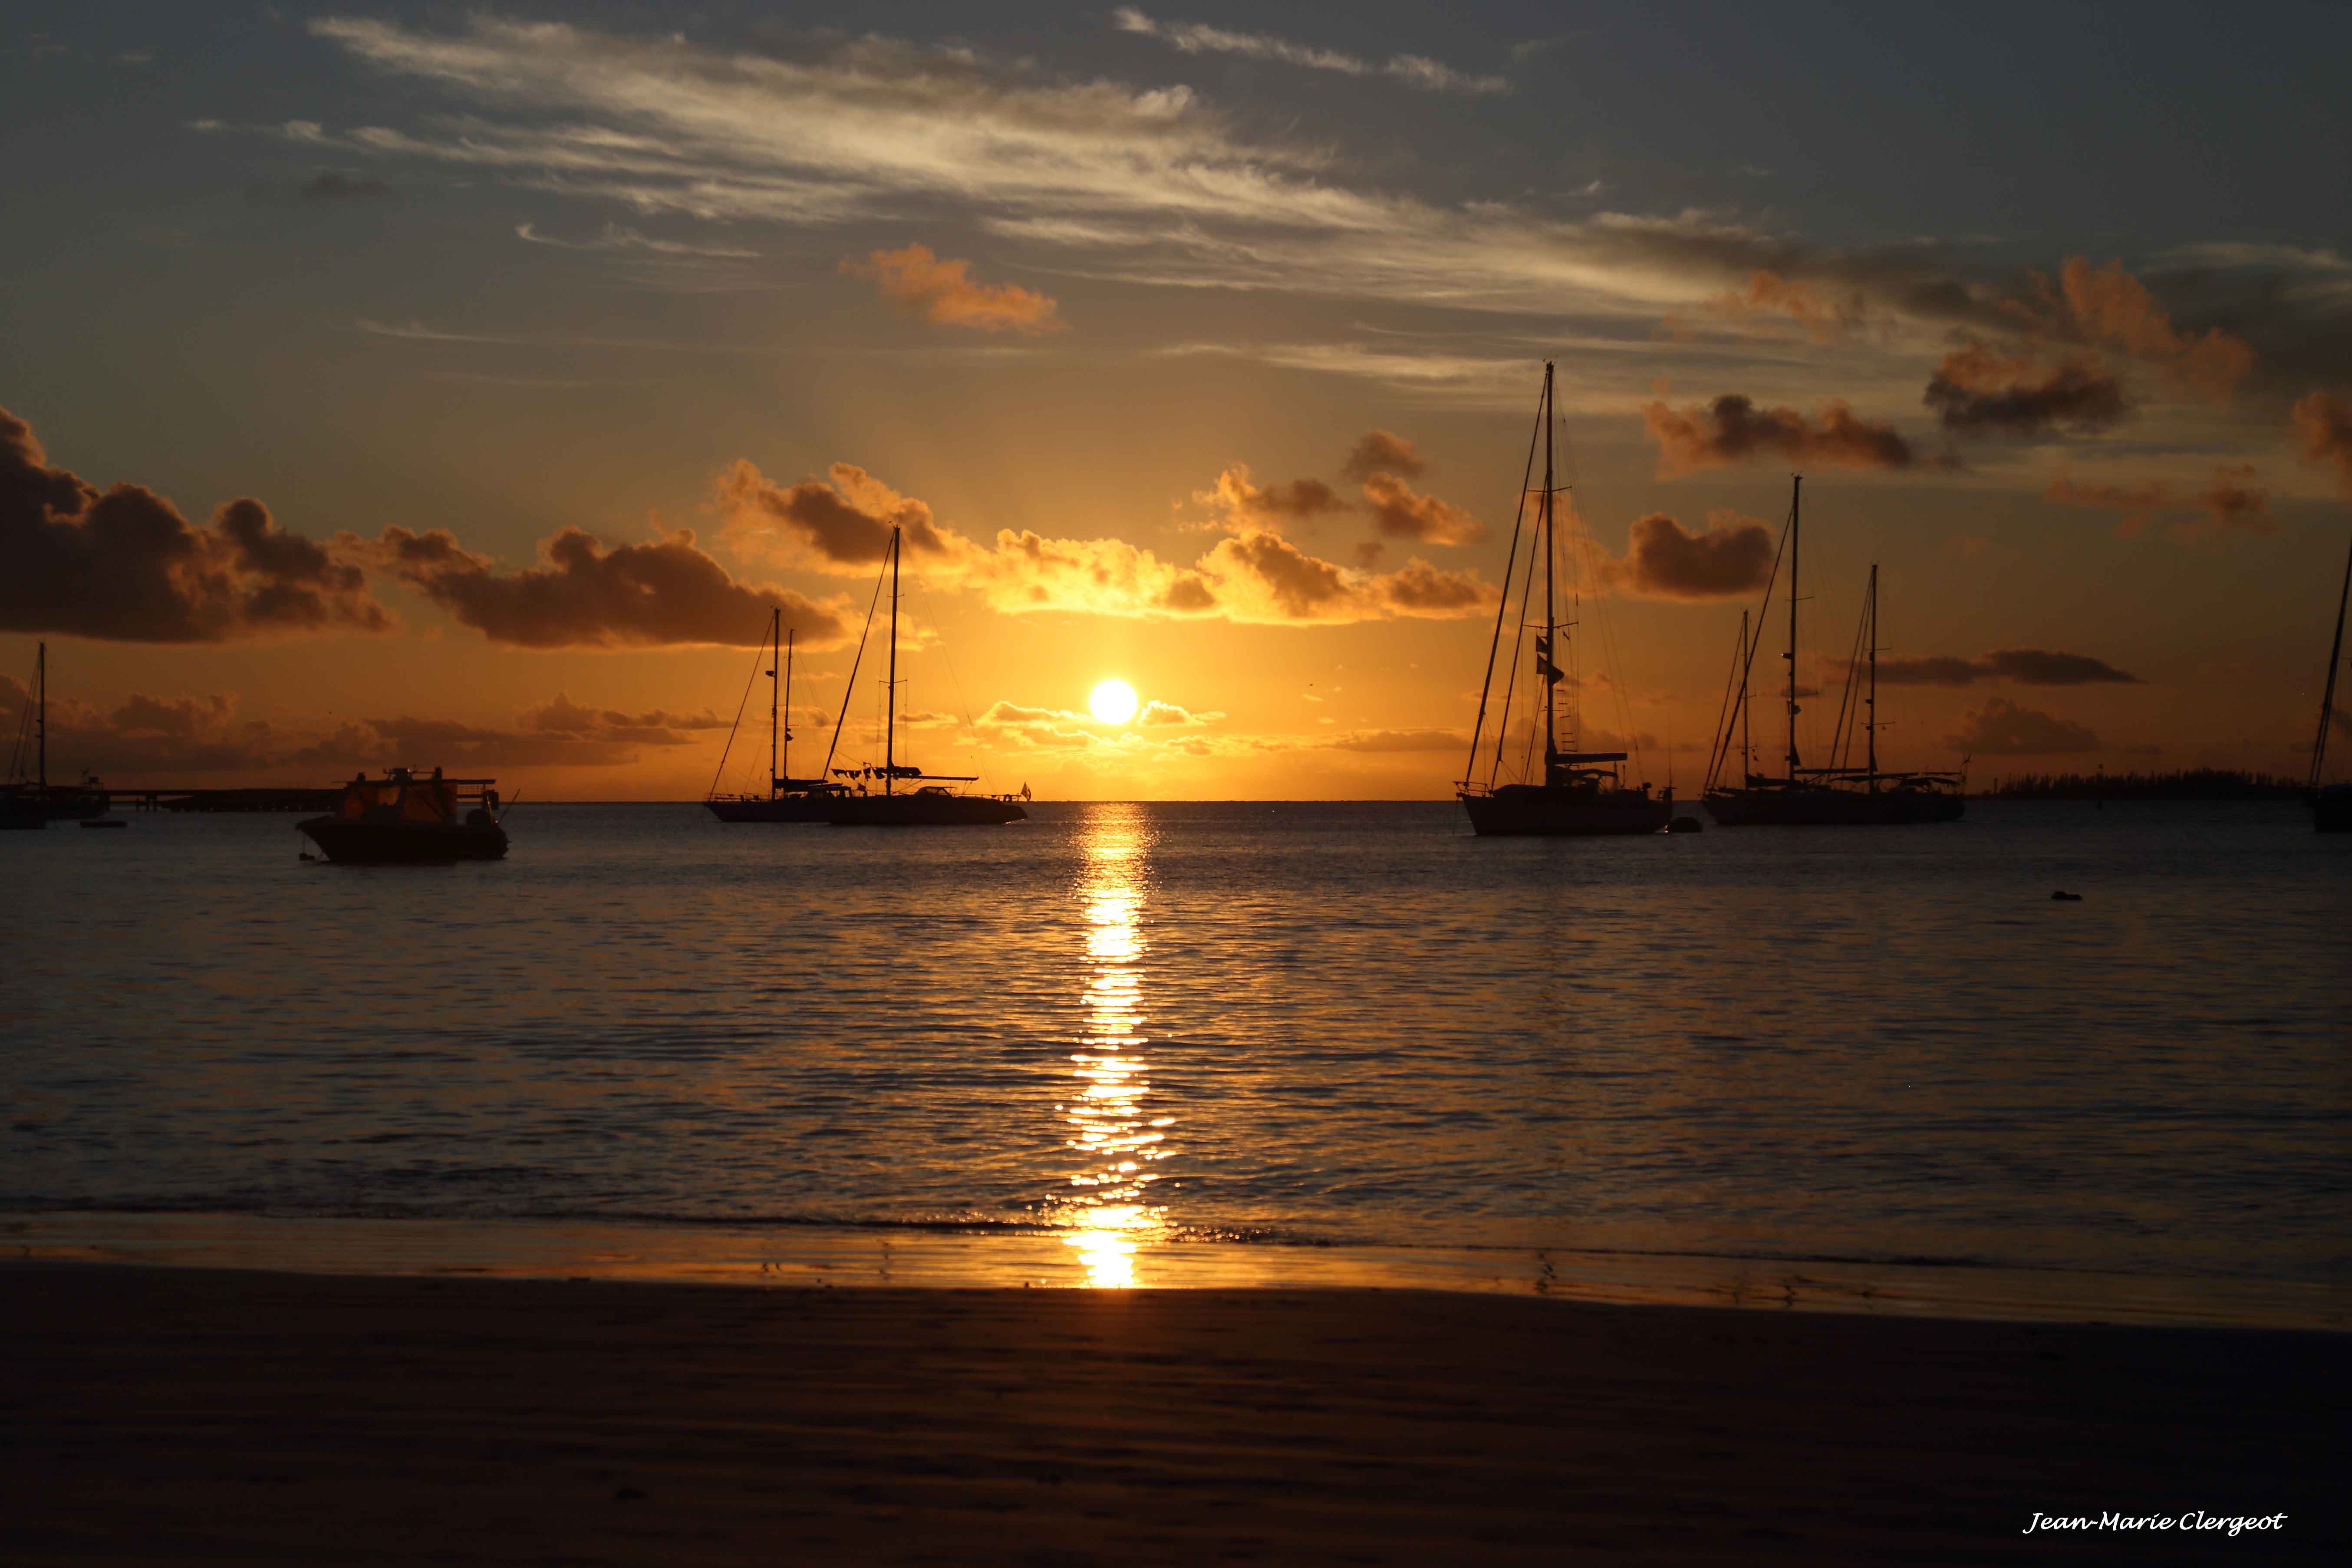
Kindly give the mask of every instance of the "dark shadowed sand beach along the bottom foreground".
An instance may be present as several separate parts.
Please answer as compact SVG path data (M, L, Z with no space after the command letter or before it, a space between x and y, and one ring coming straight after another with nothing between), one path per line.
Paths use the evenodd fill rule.
M0 1265L9 1563L2340 1561L2352 1335ZM2284 1530L2020 1537L2034 1512Z

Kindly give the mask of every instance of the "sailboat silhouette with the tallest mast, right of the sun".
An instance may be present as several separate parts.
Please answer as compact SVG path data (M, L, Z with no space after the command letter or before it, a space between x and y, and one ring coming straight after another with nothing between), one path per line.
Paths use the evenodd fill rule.
M1479 837L1588 837L1604 832L1658 832L1675 816L1675 790L1651 797L1649 785L1628 785L1618 764L1628 752L1581 752L1559 748L1555 689L1566 677L1559 646L1559 611L1552 583L1555 494L1552 484L1552 364L1543 364L1543 489L1536 501L1536 529L1526 552L1526 588L1519 595L1519 625L1512 630L1512 663L1503 675L1503 705L1496 715L1494 752L1479 778L1479 750L1486 733L1486 708L1494 696L1494 670L1503 651L1503 625L1510 614L1510 585L1519 569L1519 529L1512 527L1510 559L1503 567L1503 604L1494 616L1494 644L1486 649L1486 686L1479 691L1477 724L1470 731L1470 766L1456 788L1470 830ZM1529 465L1534 465L1529 451ZM1519 520L1526 520L1526 475L1519 475ZM1543 562L1543 632L1536 637L1536 705L1543 710L1541 780L1503 783L1503 750L1510 733L1510 701L1517 686L1517 649L1526 632L1526 599L1536 590L1536 562ZM1531 736L1534 738L1534 736Z

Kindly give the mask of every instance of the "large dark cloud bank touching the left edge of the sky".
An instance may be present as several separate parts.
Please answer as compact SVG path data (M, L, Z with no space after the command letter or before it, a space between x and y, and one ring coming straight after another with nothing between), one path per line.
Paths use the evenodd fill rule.
M390 625L358 564L280 529L259 501L195 527L139 484L101 494L0 409L0 630L233 642Z

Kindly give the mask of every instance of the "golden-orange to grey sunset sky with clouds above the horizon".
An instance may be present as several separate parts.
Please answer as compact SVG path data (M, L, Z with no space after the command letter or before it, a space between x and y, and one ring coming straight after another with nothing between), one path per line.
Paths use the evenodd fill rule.
M1442 797L1545 360L1637 780L1696 792L1797 470L1799 670L1877 564L1896 764L2303 769L2340 14L181 9L0 38L54 773L699 797L776 607L793 771L863 762L898 527L931 771Z

